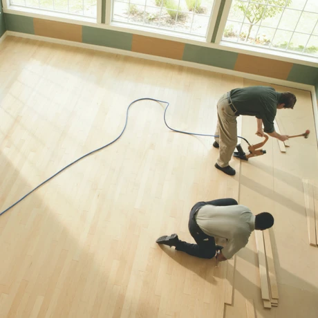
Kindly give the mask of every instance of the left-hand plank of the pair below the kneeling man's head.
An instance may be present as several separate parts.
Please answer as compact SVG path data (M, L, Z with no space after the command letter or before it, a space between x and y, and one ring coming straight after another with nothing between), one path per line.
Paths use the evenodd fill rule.
M257 254L259 255L259 275L261 278L262 299L270 301L270 288L268 286L268 272L266 268L263 232L255 231L255 239Z

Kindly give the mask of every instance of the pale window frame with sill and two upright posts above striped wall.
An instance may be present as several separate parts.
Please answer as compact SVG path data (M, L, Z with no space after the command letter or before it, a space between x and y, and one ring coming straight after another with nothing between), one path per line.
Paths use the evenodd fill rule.
M230 42L221 41L225 24L227 21L228 14L232 5L232 0L225 0L225 6L223 8L223 14L220 19L218 30L216 31L216 39L214 43L211 42L212 35L214 34L214 28L216 26L216 19L218 16L218 10L221 6L221 0L215 0L215 3L218 3L216 7L217 10L214 10L210 19L209 32L207 33L207 38L198 38L198 37L183 37L182 34L178 36L176 34L171 34L169 32L151 32L151 30L143 30L139 26L136 28L127 28L127 26L118 25L111 23L111 15L105 15L105 23L102 21L102 0L97 0L97 3L100 3L100 9L97 6L97 19L81 16L71 16L68 14L60 14L59 12L47 11L44 14L44 10L28 9L24 7L15 7L10 6L9 0L3 0L3 12L12 14L12 15L22 15L25 17L35 17L39 19L48 19L52 21L59 21L69 24L77 24L81 26L91 26L93 28L103 28L106 30L114 30L118 32L127 32L135 35L144 35L147 37L153 37L158 39L166 39L170 41L177 41L185 44L193 44L196 46L203 46L207 48L215 48L218 50L227 50L234 53L242 53L246 55L254 55L258 57L265 57L268 59L276 59L283 62L291 62L295 64L302 64L306 66L318 66L318 59L316 57L308 57L308 55L299 55L297 53L288 53L282 52L279 50L268 50L264 48L259 48L256 46L242 46L242 44L232 44ZM106 12L110 12L112 0L106 0Z

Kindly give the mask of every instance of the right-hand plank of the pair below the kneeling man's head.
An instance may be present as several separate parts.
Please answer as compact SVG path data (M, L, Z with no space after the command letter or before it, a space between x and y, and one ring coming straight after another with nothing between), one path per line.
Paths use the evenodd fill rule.
M268 279L270 281L270 298L279 299L272 243L270 241L270 230L271 229L263 231L266 262L268 265Z

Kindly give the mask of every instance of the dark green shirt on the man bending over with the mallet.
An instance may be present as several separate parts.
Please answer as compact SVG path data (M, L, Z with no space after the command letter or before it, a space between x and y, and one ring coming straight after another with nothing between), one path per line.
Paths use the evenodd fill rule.
M255 116L263 121L265 133L272 133L281 93L269 86L235 88L230 92L238 115Z

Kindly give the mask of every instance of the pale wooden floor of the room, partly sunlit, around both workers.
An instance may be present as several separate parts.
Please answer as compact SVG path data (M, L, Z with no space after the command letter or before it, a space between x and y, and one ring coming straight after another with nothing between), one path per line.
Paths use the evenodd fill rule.
M0 61L1 211L116 138L137 98L170 102L171 127L214 133L220 95L259 84L16 37L0 44ZM310 93L274 87L297 95L293 111L279 111L286 131L314 131ZM231 162L231 178L214 168L214 140L169 131L164 108L133 104L118 142L0 216L1 318L245 318L245 299L258 318L317 318L318 248L308 243L301 186L318 179L315 134L290 140L287 153L270 138L265 156ZM256 120L243 118L252 143L255 131ZM192 205L227 196L274 214L277 308L263 309L254 235L236 257L233 306L224 304L226 262L216 267L155 242L174 232L193 241Z

